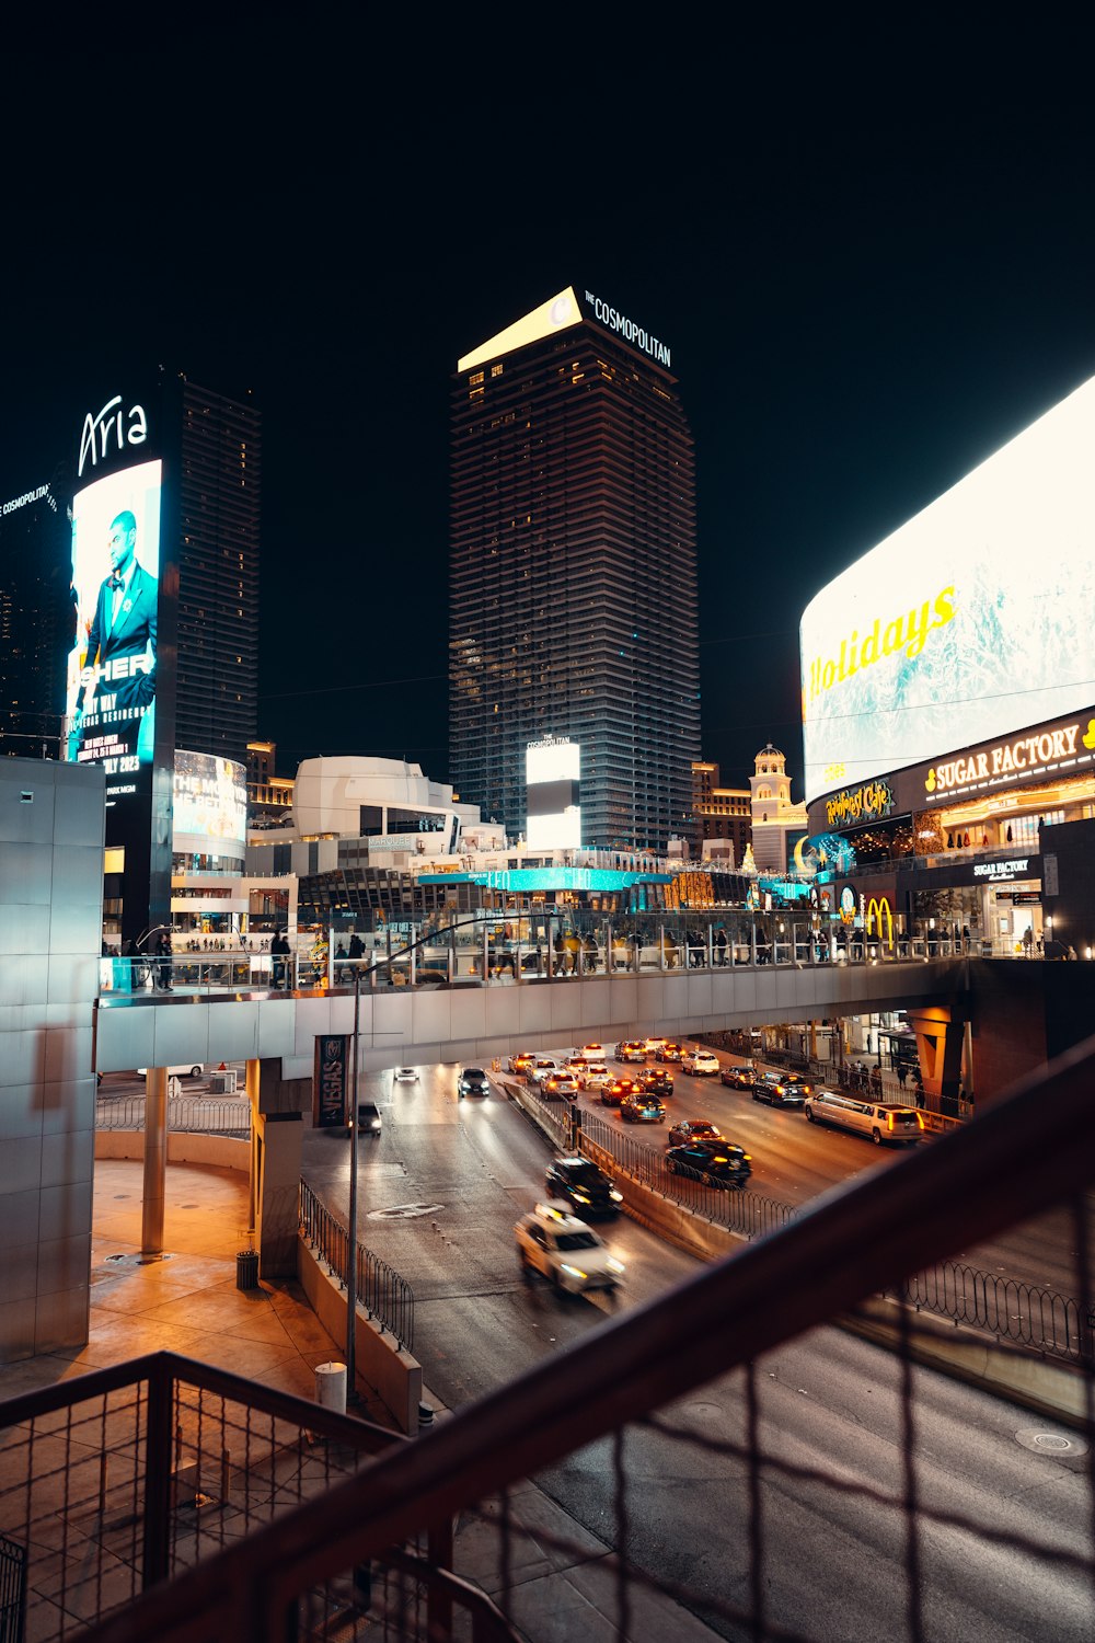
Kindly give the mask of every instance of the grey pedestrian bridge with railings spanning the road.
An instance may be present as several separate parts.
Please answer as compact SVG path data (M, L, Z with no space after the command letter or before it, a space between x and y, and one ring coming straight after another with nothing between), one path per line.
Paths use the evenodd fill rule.
M414 981L386 986L376 986L378 974L392 976L394 966L378 971L369 958L356 987L338 984L350 979L340 966L337 978L323 974L320 984L284 989L274 987L282 978L273 974L233 984L225 961L187 981L184 963L176 960L171 992L100 996L95 1070L281 1060L284 1079L309 1078L317 1037L353 1033L355 1024L363 1071L397 1063L483 1063L522 1048L607 1043L639 1032L683 1038L767 1022L946 1009L969 987L969 961L951 951L898 956L865 945L832 961L819 960L813 946L799 946L796 956L788 943L757 961L754 945L745 961L734 955L734 961L719 963L708 948L699 955L706 963L685 964L671 963L665 948L657 950L657 963L645 953L639 968L627 968L627 961L617 968L609 960L607 969L589 963L561 974L552 974L552 966L529 974L520 955L491 974L496 966L484 953L478 976L450 981L437 968L422 968ZM254 979L263 984L254 986Z

